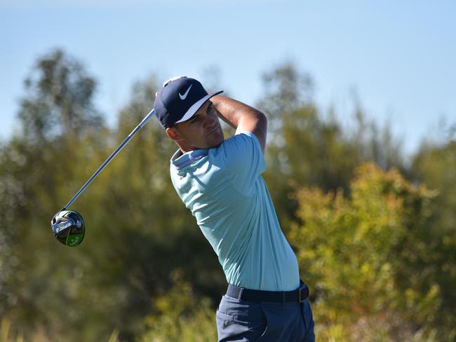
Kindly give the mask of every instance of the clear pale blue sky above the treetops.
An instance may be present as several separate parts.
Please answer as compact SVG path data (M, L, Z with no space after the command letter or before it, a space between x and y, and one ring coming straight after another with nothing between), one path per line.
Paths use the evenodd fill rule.
M18 130L23 80L61 47L98 79L97 107L114 124L134 81L204 77L254 104L264 71L293 60L316 101L352 118L352 90L370 118L389 122L406 151L456 122L455 1L2 0L0 139Z

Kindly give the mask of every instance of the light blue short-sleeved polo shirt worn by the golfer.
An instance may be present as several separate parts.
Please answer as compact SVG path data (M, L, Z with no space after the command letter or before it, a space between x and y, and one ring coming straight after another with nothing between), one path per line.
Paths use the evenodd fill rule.
M260 142L241 132L213 149L171 158L173 185L218 256L227 282L247 289L291 291L297 260L283 235L261 174Z

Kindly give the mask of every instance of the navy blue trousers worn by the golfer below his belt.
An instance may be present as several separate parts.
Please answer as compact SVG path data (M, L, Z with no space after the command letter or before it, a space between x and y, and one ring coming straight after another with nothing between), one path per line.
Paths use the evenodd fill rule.
M216 317L219 342L315 341L314 318L308 301L253 303L225 294Z

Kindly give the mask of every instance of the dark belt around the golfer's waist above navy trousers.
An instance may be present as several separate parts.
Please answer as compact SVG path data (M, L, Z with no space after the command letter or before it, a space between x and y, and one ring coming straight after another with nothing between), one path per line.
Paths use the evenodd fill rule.
M297 301L302 303L309 296L309 287L301 282L298 289L293 291L262 291L259 289L246 289L244 287L237 287L229 284L227 289L227 296L234 297L236 299L242 299L243 301L253 301L260 303L262 301L283 303L286 301Z

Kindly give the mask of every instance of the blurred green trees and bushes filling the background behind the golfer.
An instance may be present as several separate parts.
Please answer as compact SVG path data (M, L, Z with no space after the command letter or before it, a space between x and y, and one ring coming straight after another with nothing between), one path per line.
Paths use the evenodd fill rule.
M321 341L456 340L456 141L354 127L313 101L309 74L283 62L263 76L264 178L309 284ZM72 206L81 246L50 220L152 107L138 81L109 128L97 81L62 50L24 83L22 131L0 146L0 341L215 341L222 268L169 178L176 146L156 122Z

